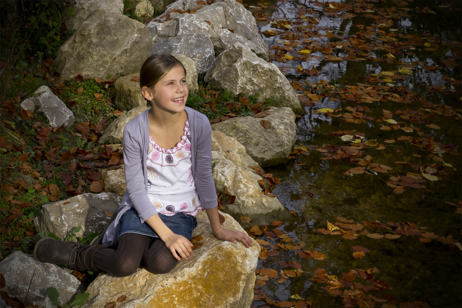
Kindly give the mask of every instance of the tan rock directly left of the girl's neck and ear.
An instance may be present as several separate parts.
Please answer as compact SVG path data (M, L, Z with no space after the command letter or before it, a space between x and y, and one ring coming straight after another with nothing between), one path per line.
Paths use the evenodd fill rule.
M140 82L132 81L134 77L140 77L136 72L128 74L116 80L116 107L118 110L131 110L135 107L146 106L146 100L141 94Z

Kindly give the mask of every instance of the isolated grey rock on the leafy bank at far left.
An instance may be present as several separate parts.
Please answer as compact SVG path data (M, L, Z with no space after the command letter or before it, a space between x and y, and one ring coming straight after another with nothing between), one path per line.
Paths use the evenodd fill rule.
M46 85L42 85L34 92L33 96L25 99L21 103L21 107L25 110L43 112L51 127L62 125L71 127L75 121L73 112Z

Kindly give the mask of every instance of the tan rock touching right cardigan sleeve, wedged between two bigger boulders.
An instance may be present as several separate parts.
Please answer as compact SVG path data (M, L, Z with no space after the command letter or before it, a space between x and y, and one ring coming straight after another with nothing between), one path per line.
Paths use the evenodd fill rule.
M215 152L215 153L213 153ZM219 131L212 131L212 154L226 158L232 163L247 170L249 166L260 167L252 157L247 154L245 147L234 137L226 136ZM213 158L213 157L212 157ZM219 185L217 185L219 187Z

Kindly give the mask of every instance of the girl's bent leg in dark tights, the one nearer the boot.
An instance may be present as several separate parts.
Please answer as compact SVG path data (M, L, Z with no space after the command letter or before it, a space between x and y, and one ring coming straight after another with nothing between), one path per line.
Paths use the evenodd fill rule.
M116 277L131 275L140 267L141 258L151 239L150 236L138 233L124 233L119 237L116 249L98 250L93 263L98 270Z

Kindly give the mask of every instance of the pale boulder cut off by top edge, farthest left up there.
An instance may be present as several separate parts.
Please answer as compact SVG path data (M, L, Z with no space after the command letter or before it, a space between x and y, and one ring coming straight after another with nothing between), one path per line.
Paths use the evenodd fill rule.
M75 15L65 21L67 29L79 29L85 18L97 10L122 15L123 0L75 0L75 5L73 6Z

